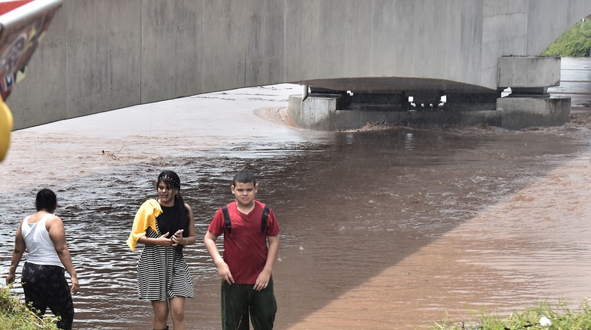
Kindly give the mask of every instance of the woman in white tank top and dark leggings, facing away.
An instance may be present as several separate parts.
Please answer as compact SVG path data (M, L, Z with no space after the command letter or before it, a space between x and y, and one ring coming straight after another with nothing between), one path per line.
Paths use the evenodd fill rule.
M37 193L35 203L37 212L25 217L16 229L6 284L14 283L16 267L26 250L27 262L21 273L26 305L39 315L45 314L49 307L61 318L58 328L71 329L74 321L71 295L78 292L80 285L67 247L64 223L53 214L57 207L56 194L45 188ZM64 269L70 275L71 287Z

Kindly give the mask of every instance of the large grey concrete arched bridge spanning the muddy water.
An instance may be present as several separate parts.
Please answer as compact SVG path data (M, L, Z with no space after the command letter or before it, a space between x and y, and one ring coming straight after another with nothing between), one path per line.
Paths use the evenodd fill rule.
M290 99L292 115L320 129L399 120L388 114L420 112L405 109L408 96L436 105L443 95L447 118L495 104L474 120L519 126L506 116L515 105L497 102L512 87L542 102L534 117L542 109L560 124L567 102L545 98L559 58L532 56L588 14L588 0L65 0L8 105L23 129L296 83L310 89ZM500 110L504 119L490 115Z

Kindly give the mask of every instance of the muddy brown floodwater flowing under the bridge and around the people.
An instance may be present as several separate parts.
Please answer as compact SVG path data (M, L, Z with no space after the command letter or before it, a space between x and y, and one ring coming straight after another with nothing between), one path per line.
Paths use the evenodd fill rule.
M74 327L150 329L150 303L135 298L139 252L125 240L158 173L175 170L198 234L186 250L197 296L186 318L190 329L220 329L218 276L201 242L247 168L281 228L276 329L429 329L446 311L462 321L544 299L577 305L591 293L591 90L579 88L591 61L575 62L563 60L573 83L552 92L577 91L583 118L559 128L305 131L254 113L301 93L278 85L16 131L0 163L0 268L36 191L52 188L80 276Z

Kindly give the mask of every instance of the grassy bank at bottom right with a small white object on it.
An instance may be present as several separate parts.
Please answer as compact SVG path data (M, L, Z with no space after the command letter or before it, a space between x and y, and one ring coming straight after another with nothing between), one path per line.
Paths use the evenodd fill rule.
M522 313L513 311L509 318L500 318L493 314L482 314L478 321L437 322L432 330L588 330L591 329L591 304L589 300L572 310L564 300L555 307L548 302L526 309Z

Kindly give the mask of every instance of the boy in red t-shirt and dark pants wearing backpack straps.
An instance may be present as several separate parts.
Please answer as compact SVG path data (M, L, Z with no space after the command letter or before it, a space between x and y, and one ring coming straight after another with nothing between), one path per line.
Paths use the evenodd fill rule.
M236 201L217 210L205 234L205 247L222 280L222 329L249 329L249 314L254 329L273 329L277 303L271 271L279 225L273 210L254 199L258 184L252 172L238 171L231 188ZM223 257L216 247L221 234Z

